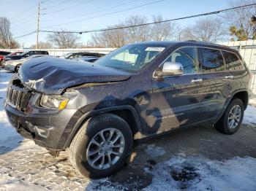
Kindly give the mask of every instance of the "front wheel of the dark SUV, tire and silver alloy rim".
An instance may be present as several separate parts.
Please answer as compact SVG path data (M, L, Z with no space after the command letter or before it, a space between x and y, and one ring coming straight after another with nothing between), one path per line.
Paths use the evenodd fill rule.
M69 160L83 176L110 176L126 162L132 142L127 122L115 114L101 114L78 130L69 147Z

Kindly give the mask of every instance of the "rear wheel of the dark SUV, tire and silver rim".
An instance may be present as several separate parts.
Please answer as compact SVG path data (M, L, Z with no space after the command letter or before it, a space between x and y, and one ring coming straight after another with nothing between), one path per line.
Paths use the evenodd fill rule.
M222 133L232 135L240 128L244 118L244 103L239 98L234 98L227 106L222 118L215 127Z

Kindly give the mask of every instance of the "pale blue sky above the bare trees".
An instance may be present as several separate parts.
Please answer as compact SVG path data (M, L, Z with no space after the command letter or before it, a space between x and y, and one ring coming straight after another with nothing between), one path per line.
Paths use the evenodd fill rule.
M70 31L86 31L113 26L119 20L124 20L131 15L145 15L150 21L152 15L160 14L165 19L170 19L230 7L230 0L41 1L43 2L39 28L47 30L62 28ZM37 0L1 0L0 17L10 19L13 36L20 36L36 30L37 4ZM187 26L194 21L195 19L181 20L178 24ZM39 34L39 41L46 41L46 36L47 34ZM84 44L90 36L91 34L81 34ZM35 39L36 35L32 34L16 40L24 47L29 47L31 44L35 44Z

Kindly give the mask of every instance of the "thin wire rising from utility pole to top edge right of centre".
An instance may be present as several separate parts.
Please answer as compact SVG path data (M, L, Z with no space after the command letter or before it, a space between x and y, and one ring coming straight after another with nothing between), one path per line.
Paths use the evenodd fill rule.
M106 15L113 15L113 14L116 14L118 12L124 12L124 11L131 10L131 9L138 9L139 7L145 7L145 6L150 5L150 4L156 4L156 3L159 3L160 1L165 1L165 0L153 1L153 2L150 2L150 3L147 3L147 4L141 4L141 5L136 6L136 7L129 7L127 9L121 9L121 10L118 10L116 12L109 12L109 13L106 13L106 14L97 15L95 17L89 17L89 18L86 18L86 19L75 20L75 21L71 21L71 22L68 22L68 23L61 23L61 24L53 25L53 26L63 26L63 25L67 25L67 24L70 24L70 23L79 23L79 22L84 21L84 20L90 20L90 19L93 19L93 18L103 17L103 16L106 16ZM49 28L49 27L53 27L53 26L45 26L43 28Z

